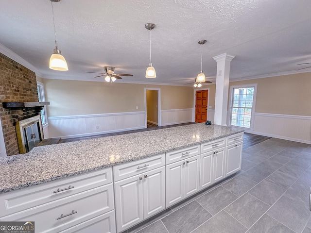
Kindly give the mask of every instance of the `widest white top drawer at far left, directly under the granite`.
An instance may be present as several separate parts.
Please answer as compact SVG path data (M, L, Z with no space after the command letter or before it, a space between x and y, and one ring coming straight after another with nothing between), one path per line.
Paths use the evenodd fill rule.
M0 194L0 217L67 198L107 183L112 183L111 167Z

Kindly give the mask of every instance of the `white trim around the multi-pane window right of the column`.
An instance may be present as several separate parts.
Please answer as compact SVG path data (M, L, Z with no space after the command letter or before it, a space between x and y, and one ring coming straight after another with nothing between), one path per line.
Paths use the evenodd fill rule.
M245 128L245 127L241 127L241 126L231 125L231 119L232 119L232 104L233 104L233 89L234 89L234 88L247 88L247 87L254 87L253 107L252 107L252 114L251 114L250 127L249 127L249 128ZM254 129L254 118L255 118L256 100L257 100L257 83L230 86L230 118L229 118L229 125L230 125L231 127L238 127L238 128L244 129L244 130L253 130L253 129Z

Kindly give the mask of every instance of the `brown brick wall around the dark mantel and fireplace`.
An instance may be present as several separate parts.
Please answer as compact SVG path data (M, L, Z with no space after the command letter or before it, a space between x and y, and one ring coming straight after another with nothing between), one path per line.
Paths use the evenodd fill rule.
M0 53L0 120L7 155L19 154L15 123L37 116L37 108L8 110L2 102L37 102L35 72Z

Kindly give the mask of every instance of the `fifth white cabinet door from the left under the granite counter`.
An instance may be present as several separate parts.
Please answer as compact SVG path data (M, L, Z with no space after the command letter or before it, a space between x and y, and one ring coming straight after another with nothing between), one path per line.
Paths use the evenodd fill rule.
M207 188L213 183L213 151L201 154L200 189Z

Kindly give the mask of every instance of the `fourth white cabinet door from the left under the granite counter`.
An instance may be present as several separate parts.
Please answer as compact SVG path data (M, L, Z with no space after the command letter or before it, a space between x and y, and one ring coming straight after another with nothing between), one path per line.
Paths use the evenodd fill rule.
M200 155L186 159L184 198L200 190Z

